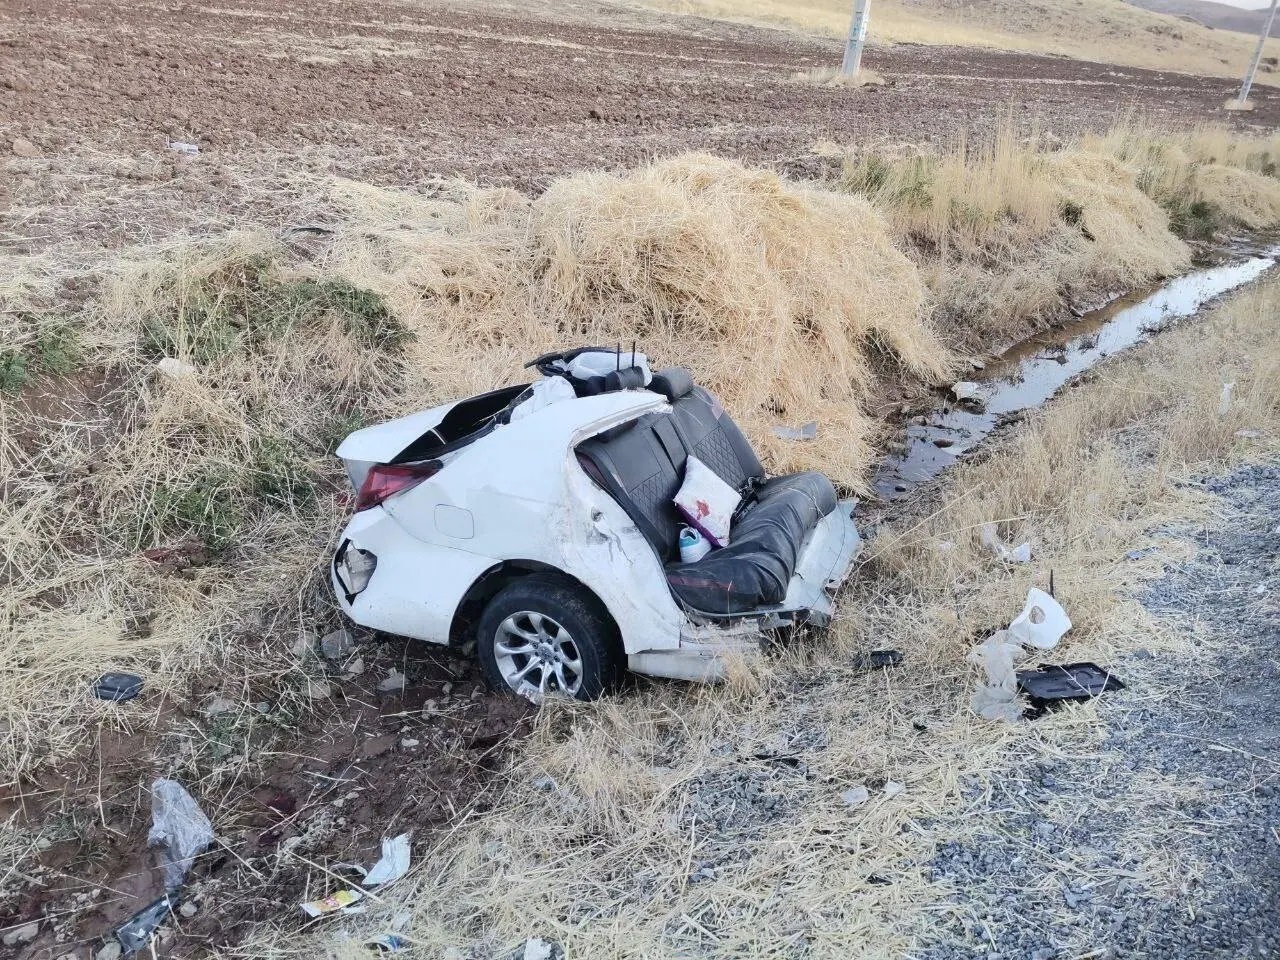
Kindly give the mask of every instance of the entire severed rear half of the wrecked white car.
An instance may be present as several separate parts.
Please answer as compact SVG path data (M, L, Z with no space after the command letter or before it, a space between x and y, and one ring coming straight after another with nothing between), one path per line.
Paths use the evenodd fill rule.
M355 622L474 644L495 689L585 700L626 669L714 681L727 652L829 620L861 541L826 476L765 477L682 367L599 348L531 365L544 379L338 448L357 500L332 579ZM694 461L737 507L727 543L681 562Z

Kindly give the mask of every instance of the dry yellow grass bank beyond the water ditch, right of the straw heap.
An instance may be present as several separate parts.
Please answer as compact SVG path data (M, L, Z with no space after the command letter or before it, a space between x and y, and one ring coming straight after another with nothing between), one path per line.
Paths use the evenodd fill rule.
M850 150L841 182L883 211L938 328L975 349L1185 269L1181 237L1280 223L1275 157L1274 138L1220 128L1125 123L1047 147L1005 127L943 151Z

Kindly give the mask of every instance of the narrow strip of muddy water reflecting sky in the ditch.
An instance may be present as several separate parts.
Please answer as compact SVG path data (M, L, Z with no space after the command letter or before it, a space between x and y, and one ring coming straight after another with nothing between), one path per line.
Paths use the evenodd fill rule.
M1196 270L1153 289L1120 297L1062 328L1014 344L968 376L972 399L960 402L948 390L936 408L908 425L906 449L881 463L876 492L886 500L905 495L974 449L1010 415L1041 406L1071 378L1100 361L1143 343L1170 324L1193 316L1215 297L1258 279L1275 265L1277 256L1280 246L1270 244L1260 255Z

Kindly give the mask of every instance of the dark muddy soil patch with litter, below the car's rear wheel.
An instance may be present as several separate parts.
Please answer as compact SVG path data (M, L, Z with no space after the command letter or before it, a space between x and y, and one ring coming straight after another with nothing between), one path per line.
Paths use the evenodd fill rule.
M160 956L202 956L260 922L302 923L300 904L358 882L340 864L367 869L381 838L408 832L421 850L462 808L484 810L484 786L527 730L529 704L489 694L470 660L412 641L369 637L337 659L319 648L303 655L321 664L312 709L262 699L278 691L270 676L233 696L223 677L160 703L145 691L111 708L116 722L102 723L90 755L0 786L0 823L42 829L0 896L0 932L20 937L41 922L5 950L118 956L113 931L165 892L147 849L155 777L183 782L218 836L192 865ZM380 690L393 671L403 689Z

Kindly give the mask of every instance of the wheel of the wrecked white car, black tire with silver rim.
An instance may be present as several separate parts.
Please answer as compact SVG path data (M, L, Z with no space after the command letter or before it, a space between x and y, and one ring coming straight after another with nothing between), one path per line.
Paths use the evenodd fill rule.
M532 618L522 614L532 614ZM508 620L512 625L504 626ZM512 653L520 639L511 630L532 630L539 637L545 634L550 640L544 643L544 653L553 659L535 663L532 654ZM507 637L507 650L499 653L503 636ZM540 640L530 640L530 648L538 643ZM557 650L564 655L558 664L554 660ZM518 673L527 667L524 682L535 689L541 689L541 678L547 675L548 690L568 692L579 700L595 700L616 690L626 675L622 640L604 604L581 586L548 573L531 573L507 584L489 600L476 625L476 657L489 687L511 695L518 691L508 682L499 664L500 658L508 672L515 669ZM566 677L572 686L573 672L566 664L573 659L581 666L579 682L576 689L566 690L559 686L558 677Z

